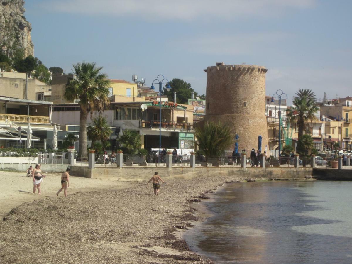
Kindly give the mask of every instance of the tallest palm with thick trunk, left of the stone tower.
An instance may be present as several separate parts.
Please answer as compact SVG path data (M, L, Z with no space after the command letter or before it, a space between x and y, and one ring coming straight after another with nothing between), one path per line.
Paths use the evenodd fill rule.
M80 100L80 143L79 155L87 155L87 116L98 111L101 113L108 106L108 94L111 82L103 67L96 67L95 62L82 62L73 65L75 78L65 87L64 98L70 102Z

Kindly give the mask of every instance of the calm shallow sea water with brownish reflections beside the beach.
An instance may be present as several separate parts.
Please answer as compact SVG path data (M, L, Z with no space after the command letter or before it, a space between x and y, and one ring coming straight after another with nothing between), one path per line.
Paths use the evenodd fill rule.
M186 231L215 263L352 263L352 182L229 183Z

